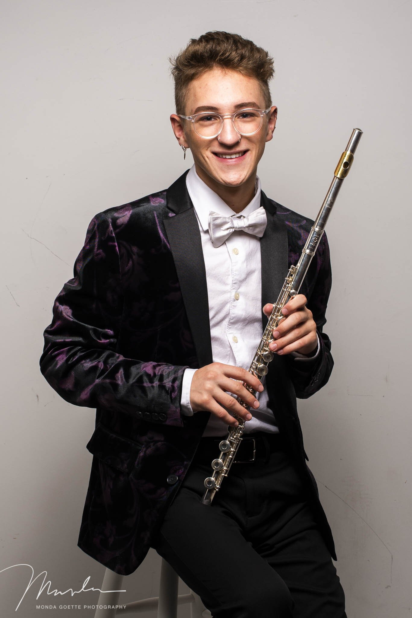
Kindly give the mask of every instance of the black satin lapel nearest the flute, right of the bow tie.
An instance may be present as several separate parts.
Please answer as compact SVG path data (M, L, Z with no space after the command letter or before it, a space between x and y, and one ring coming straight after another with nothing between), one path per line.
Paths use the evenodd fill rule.
M276 207L266 195L261 192L261 206L266 210L267 225L261 238L261 271L262 271L262 307L266 303L274 303L282 289L288 274L288 237L287 229L279 217ZM263 328L266 328L267 317L262 312Z

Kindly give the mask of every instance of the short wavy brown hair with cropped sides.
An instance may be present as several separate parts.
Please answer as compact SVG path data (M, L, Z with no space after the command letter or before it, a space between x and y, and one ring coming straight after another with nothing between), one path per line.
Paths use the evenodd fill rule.
M169 60L175 80L177 114L185 113L185 96L190 82L214 67L236 70L242 75L256 78L266 108L272 104L268 82L274 74L273 58L243 36L217 30L206 32L198 39L190 39L187 47Z

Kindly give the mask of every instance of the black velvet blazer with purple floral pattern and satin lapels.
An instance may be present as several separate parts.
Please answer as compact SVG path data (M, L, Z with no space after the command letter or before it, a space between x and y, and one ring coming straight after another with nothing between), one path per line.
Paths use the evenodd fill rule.
M40 367L48 383L68 402L96 408L78 546L123 575L145 558L210 414L180 413L185 368L212 362L206 273L186 174L166 191L93 218L74 277L57 296L44 331ZM263 192L261 205L267 213L260 242L263 307L278 297L313 221ZM314 394L332 371L330 341L322 332L330 286L323 235L301 287L320 353L301 363L275 355L266 383L269 406L336 559L296 412L296 396Z

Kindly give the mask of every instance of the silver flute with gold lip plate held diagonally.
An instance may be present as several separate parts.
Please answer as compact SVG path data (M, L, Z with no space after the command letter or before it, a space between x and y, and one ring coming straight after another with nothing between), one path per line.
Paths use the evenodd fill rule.
M353 155L355 154L361 135L362 131L360 129L353 129L346 150L340 157L339 163L335 169L334 179L332 180L332 184L330 184L329 191L326 194L321 210L319 211L316 221L309 232L308 240L306 240L305 247L303 247L300 259L296 266L290 267L284 286L282 287L277 301L273 305L273 310L269 316L269 320L267 321L267 326L264 329L263 337L249 368L249 372L255 376L266 376L267 374L267 365L273 358L273 352L269 349L269 344L273 341L272 332L284 318L282 308L286 305L290 298L293 298L296 294L298 294L303 279L305 279L309 264L311 263L311 260L322 238L327 219L329 218L332 206L334 205L340 187L342 186L343 179L347 177L350 170ZM256 391L253 387L248 386L248 384L245 383L243 383L243 386L251 392L253 396L256 396ZM250 410L250 405L246 404L240 397L237 397L237 401L246 410ZM212 461L212 476L208 476L208 478L205 478L204 480L206 491L202 499L202 504L212 503L214 495L221 488L223 478L229 473L230 466L235 460L237 449L242 441L246 421L236 413L233 414L233 417L238 421L238 425L236 427L230 426L227 438L222 440L219 444L221 454L217 459Z

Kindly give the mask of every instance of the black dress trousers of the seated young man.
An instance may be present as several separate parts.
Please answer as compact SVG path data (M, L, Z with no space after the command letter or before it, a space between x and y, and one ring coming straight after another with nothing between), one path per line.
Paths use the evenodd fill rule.
M345 618L345 598L279 434L254 434L251 463L232 464L212 504L203 481L219 455L203 438L151 546L214 618Z

